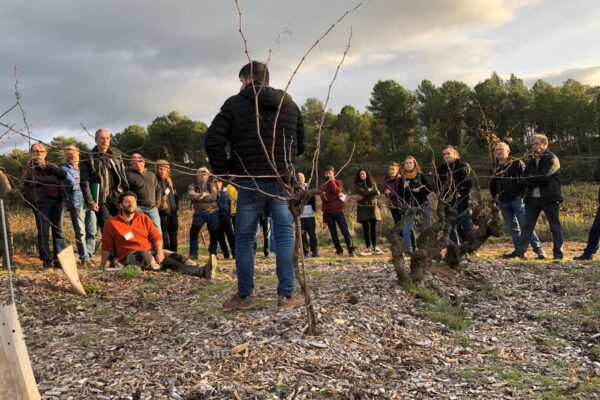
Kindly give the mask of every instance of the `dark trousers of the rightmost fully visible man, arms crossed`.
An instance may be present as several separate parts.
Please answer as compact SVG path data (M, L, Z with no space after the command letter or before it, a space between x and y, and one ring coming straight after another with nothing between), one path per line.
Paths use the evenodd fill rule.
M531 241L531 236L535 229L535 224L540 216L541 212L544 212L548 223L550 224L550 232L552 233L552 253L554 256L562 256L562 227L560 226L560 219L558 217L560 211L560 202L544 202L540 198L530 197L525 202L525 224L521 229L521 235L517 239L515 251L521 255L525 254L527 246Z

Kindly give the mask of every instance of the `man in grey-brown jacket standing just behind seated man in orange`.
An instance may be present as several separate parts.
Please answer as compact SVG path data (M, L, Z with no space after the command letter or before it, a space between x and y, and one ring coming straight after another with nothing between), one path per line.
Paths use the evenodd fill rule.
M150 217L154 226L161 232L158 203L162 193L156 175L146 168L146 160L141 154L131 156L131 168L127 170L129 190L137 196L138 211Z

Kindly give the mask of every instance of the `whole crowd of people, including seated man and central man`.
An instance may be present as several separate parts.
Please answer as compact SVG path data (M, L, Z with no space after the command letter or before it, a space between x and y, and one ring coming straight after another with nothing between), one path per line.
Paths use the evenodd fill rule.
M98 265L101 268L136 264L149 270L172 269L211 279L220 247L224 258L235 259L238 277L237 292L223 304L223 309L249 309L253 307L254 259L262 227L264 255L275 257L278 306L300 306L303 299L293 295L293 216L285 200L289 192L282 183L294 191L307 192L308 201L300 215L305 257L320 256L317 195L323 223L338 256L344 254L338 229L349 256L384 253L377 237L382 206L389 208L395 224L401 224L404 251L410 255L417 245L416 224L424 228L431 225L432 196L444 207L444 216L451 226L450 240L460 245L470 239L473 172L453 146L442 150L444 162L433 175L425 174L413 156L402 163L390 163L383 193L372 172L361 168L356 171L350 195L332 166L324 169L325 181L317 192L308 187L302 172L295 172L290 179L296 157L304 152L304 125L296 103L284 91L269 86L269 71L262 63L245 65L239 78L240 92L223 104L207 132L205 149L212 173L208 167L198 168L194 182L187 188L193 209L187 256L177 252L180 196L167 160L157 160L151 171L143 156L136 153L126 166L121 153L111 147L106 129L96 132L96 146L81 159L75 146L66 146L62 165L46 162L46 146L33 144L23 174L22 193L35 217L43 266L60 268L57 255L65 247L62 228L66 207L82 266L93 266L98 251L97 230L102 233ZM260 112L258 128L256 108ZM562 259L560 163L542 134L533 136L531 150L533 157L523 161L510 156L507 143L495 146L490 193L513 242L513 251L504 256L524 258L531 245L539 259L546 258L535 233L543 211L552 233L553 258ZM594 180L600 181L600 160ZM12 188L3 173L0 183L0 195L4 198ZM348 227L345 211L349 198L356 203L356 222L362 226L362 249L356 248ZM204 226L209 235L209 260L200 267L196 260ZM591 259L599 241L600 208L588 245L576 258Z

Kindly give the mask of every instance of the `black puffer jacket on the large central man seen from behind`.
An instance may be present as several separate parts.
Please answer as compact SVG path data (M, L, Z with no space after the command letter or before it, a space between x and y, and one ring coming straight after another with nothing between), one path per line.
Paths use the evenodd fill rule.
M288 175L290 164L295 164L296 157L304 152L302 114L292 98L282 90L258 83L254 88L258 92L260 134L269 155L277 107L285 96L277 120L275 161L279 175ZM248 85L239 94L227 99L208 128L204 144L210 165L217 175L274 175L256 134L254 88ZM229 154L226 150L228 143L231 146Z

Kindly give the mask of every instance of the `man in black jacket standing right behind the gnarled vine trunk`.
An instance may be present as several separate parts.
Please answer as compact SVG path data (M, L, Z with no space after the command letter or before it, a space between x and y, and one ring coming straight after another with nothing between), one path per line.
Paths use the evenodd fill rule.
M439 198L445 203L445 216L450 221L450 240L457 245L471 238L473 223L469 199L471 193L471 166L460 160L458 151L448 145L442 151L444 164L437 169ZM459 235L462 229L462 240Z

